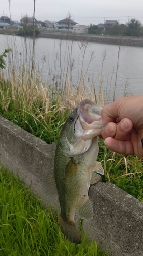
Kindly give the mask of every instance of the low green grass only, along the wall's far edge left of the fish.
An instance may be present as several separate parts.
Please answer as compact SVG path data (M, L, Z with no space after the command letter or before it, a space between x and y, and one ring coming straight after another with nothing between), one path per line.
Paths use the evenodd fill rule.
M56 102L56 105L58 105L58 102ZM55 107L52 110L52 106L51 112L45 118L43 118L44 113L37 109L33 112L28 111L28 109L26 111L21 109L0 111L1 116L48 144L58 140L61 126L66 121L69 113L68 110L65 111L65 115L58 113L58 111L55 111Z

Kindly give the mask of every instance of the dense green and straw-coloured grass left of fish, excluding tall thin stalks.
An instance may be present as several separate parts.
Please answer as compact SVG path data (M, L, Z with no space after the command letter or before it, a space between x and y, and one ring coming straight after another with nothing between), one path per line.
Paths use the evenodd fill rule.
M55 95L50 86L38 89L33 84L31 90L21 84L17 89L0 76L0 115L50 144L58 140L69 110L62 104L63 94Z

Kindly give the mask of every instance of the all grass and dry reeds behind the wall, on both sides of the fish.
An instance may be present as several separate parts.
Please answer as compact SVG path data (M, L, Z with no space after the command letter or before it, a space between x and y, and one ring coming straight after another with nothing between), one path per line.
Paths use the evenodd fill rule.
M84 46L84 42L82 42L81 49L84 54L87 47L88 45ZM10 54L11 52L7 54L9 59L11 59ZM105 55L103 55L102 68L104 57ZM59 80L60 77L64 77L63 73L60 77L54 74L53 83L50 85L47 82L42 82L40 74L36 73L36 70L34 70L36 73L34 79L31 65L29 66L31 61L30 59L28 63L27 61L26 59L17 59L13 64L14 67L9 61L9 69L4 70L6 71L5 75L0 69L0 115L27 132L49 144L56 142L63 123L79 102L91 99L104 105L102 68L99 81L100 93L97 95L93 84L90 89L86 86L84 72L81 72L77 87L72 85L68 76ZM69 58L65 61L67 61L65 62L67 66ZM15 72L13 72L13 68ZM81 70L82 68L81 65ZM64 70L61 69L61 72ZM143 201L142 160L135 156L123 156L109 151L103 140L100 140L99 144L98 160L103 163L105 169L104 181L117 185Z

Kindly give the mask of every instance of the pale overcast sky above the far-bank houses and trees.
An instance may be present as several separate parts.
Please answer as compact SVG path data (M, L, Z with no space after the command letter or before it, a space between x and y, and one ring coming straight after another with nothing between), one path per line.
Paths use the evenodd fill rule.
M118 20L126 23L131 18L143 24L143 0L36 0L36 19L59 21L68 12L72 19L90 25ZM34 0L10 0L11 19L20 20L23 15L33 16ZM10 17L9 0L1 0L0 16Z

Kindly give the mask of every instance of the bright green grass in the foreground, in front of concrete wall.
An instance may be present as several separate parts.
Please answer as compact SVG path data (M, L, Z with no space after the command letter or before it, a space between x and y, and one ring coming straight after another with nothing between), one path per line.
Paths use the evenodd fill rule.
M61 233L57 213L48 209L7 170L0 172L1 256L107 256L96 241L82 233L82 244L69 242Z

